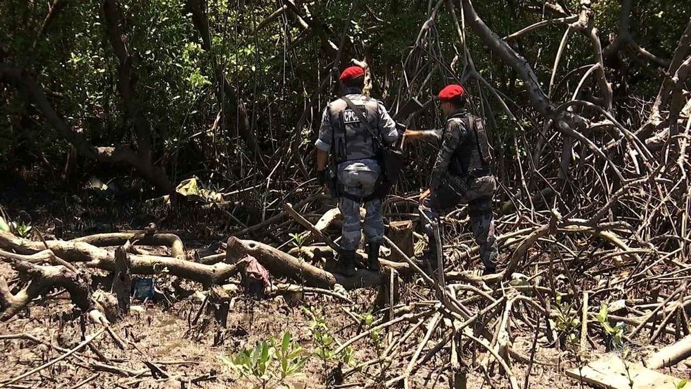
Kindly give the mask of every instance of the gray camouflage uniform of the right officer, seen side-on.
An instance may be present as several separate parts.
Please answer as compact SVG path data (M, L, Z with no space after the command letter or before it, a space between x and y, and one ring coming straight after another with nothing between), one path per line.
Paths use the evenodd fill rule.
M422 202L424 213L431 220L438 220L439 213L458 204L468 205L468 214L475 242L480 245L480 258L485 268L497 266L498 247L492 216L492 196L496 190L494 176L483 169L474 131L468 131L466 113L451 115L442 133L442 146L437 154L432 178L430 196ZM462 162L452 168L454 159ZM458 165L455 165L458 166ZM424 219L424 218L423 218ZM429 223L424 229L430 242L434 242L434 231ZM430 256L436 256L436 246L430 244Z

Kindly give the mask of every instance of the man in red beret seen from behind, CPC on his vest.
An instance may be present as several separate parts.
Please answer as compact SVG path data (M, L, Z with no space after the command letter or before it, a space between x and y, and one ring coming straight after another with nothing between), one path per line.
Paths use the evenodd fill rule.
M343 70L339 81L344 98L349 99L360 112L353 111L343 97L328 104L315 144L317 177L322 184L330 180L326 169L329 155L337 167L337 194L343 215L343 251L339 253L337 272L345 276L355 274L355 249L361 237L361 202L365 202L367 210L363 231L368 241L368 268L379 270L379 247L384 238L381 198L377 198L375 193L382 174L378 161L379 144L394 144L399 137L396 124L384 105L363 95L364 76L364 70L359 66ZM363 113L365 117L361 118ZM367 120L370 128L378 131L377 138L361 120Z

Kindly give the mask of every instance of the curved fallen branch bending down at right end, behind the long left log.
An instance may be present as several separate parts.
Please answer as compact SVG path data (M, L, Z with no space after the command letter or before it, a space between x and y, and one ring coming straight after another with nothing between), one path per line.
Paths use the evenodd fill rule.
M178 259L187 259L184 252L184 244L176 234L152 234L148 232L138 232L134 234L124 234L116 232L113 234L95 234L82 236L70 240L70 242L83 242L96 247L123 246L127 242L133 245L146 246L166 246L171 249L171 256Z

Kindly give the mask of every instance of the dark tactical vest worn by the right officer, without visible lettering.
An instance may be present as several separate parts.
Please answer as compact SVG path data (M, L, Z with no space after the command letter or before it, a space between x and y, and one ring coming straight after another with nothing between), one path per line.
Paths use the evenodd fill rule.
M482 117L457 113L448 118L448 121L451 120L459 122L459 125L465 124L467 129L466 136L451 158L449 164L451 174L462 176L473 174L477 177L488 175L492 156Z

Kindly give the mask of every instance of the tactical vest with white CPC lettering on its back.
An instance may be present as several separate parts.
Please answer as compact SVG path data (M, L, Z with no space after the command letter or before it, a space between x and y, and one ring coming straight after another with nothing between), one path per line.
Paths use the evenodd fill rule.
M377 129L379 120L379 106L377 100L365 95L347 95L359 109L364 108L368 123L372 129ZM334 160L337 163L377 156L377 142L372 134L363 126L358 113L352 111L343 99L329 104L329 115L332 125L333 139L331 143Z

